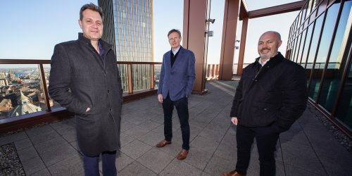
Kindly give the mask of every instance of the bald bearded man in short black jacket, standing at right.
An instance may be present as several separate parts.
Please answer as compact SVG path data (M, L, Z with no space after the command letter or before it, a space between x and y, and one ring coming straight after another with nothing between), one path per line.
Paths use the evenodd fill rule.
M279 133L289 130L306 109L304 69L277 51L281 44L278 32L265 32L258 42L260 57L244 68L230 113L237 125L236 170L223 176L246 175L254 138L260 175L275 175Z

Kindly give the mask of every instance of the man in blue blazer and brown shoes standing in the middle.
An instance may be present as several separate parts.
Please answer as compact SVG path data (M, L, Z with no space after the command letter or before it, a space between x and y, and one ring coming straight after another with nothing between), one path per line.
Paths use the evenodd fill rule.
M194 68L196 59L192 51L180 45L182 38L179 30L170 30L168 39L171 50L163 56L158 87L158 101L163 103L165 139L156 146L171 144L172 111L175 106L180 119L183 142L182 151L177 155L177 159L183 160L189 151L188 96L191 94L196 77Z

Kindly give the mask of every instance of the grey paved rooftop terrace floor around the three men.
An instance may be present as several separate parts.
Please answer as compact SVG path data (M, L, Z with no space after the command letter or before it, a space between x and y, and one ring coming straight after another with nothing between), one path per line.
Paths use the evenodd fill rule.
M189 97L191 147L184 161L176 158L182 149L176 111L172 144L156 148L163 139L163 110L157 97L125 103L122 147L116 158L118 175L206 176L234 170L236 126L231 125L229 114L236 85L236 81L210 81L208 94ZM14 144L25 175L83 175L74 118L0 137L0 146L6 144ZM276 160L277 175L352 175L351 153L309 109L289 131L280 134ZM255 145L247 175L259 175Z

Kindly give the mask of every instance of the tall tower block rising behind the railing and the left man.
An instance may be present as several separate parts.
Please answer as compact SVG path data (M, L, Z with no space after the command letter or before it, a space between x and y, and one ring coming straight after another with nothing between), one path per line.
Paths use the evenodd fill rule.
M104 11L103 39L113 44L118 61L153 61L153 1L99 0ZM127 65L118 65L124 92L128 89ZM151 69L132 65L133 91L149 89Z

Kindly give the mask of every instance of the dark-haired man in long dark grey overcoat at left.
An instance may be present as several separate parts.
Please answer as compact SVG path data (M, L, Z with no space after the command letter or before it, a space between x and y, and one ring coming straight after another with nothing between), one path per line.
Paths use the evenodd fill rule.
M75 113L77 142L84 154L84 175L117 175L120 148L121 79L111 44L101 39L103 11L85 4L78 20L78 39L57 44L51 58L49 94Z

